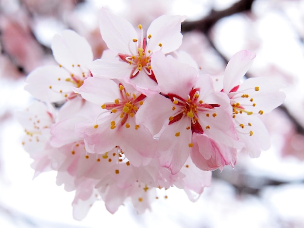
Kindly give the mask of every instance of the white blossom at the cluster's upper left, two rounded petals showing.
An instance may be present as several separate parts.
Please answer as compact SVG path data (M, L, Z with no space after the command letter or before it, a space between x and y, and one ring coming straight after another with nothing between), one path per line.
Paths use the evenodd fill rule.
M66 30L55 35L52 51L59 65L40 66L27 77L25 89L42 101L58 102L75 98L73 87L80 87L91 76L87 65L93 61L91 47L77 33Z

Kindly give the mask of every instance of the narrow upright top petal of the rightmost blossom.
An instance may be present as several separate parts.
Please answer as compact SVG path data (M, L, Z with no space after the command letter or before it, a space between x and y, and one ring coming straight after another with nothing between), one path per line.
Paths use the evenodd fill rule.
M255 53L241 50L232 56L228 62L224 75L224 92L229 93L231 89L240 84L240 80L249 70L255 58Z

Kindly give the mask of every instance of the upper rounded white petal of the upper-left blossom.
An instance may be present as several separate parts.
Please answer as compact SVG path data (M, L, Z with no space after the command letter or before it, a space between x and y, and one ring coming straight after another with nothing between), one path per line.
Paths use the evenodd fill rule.
M81 72L86 71L86 65L93 61L93 52L89 43L72 30L63 31L61 36L55 35L51 49L57 63L74 74L81 75Z

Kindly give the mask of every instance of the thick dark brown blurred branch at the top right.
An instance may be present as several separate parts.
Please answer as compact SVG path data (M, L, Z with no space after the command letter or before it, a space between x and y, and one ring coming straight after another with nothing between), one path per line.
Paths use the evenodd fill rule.
M253 1L254 0L240 0L225 10L212 10L208 16L205 16L201 20L185 21L182 24L182 33L196 30L206 34L209 32L210 28L221 18L251 10Z

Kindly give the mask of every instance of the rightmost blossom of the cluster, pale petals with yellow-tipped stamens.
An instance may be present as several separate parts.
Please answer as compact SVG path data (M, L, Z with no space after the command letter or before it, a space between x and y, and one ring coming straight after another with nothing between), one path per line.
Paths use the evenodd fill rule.
M239 140L243 150L251 157L258 157L261 149L270 147L269 133L257 117L282 104L285 85L265 78L250 78L240 83L253 63L255 54L248 50L237 52L229 61L223 79L223 92L230 98Z

